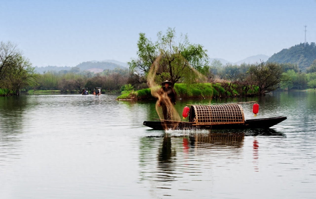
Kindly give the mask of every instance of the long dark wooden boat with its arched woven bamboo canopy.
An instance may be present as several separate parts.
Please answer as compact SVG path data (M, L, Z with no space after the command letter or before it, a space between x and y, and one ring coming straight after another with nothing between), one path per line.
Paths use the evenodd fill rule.
M259 118L245 120L244 111L239 104L192 105L189 122L144 121L143 125L153 129L268 129L279 124L286 117Z

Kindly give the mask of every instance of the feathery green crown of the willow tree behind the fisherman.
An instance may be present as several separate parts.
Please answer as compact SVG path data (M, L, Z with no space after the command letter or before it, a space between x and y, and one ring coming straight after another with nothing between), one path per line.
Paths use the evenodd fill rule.
M156 59L159 59L159 69L155 70L156 82L194 82L198 78L196 71L203 75L209 71L204 46L191 44L186 34L181 34L176 40L174 28L168 28L165 34L158 32L156 42L148 39L145 33L139 33L137 47L138 58L128 62L130 69L142 71L146 75Z

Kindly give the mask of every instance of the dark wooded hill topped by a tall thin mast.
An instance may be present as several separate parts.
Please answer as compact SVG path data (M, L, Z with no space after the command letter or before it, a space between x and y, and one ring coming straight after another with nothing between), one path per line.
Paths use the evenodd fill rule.
M268 62L277 63L295 63L303 72L313 63L316 59L316 45L314 42L311 44L298 44L290 48L284 48L278 53L274 53Z

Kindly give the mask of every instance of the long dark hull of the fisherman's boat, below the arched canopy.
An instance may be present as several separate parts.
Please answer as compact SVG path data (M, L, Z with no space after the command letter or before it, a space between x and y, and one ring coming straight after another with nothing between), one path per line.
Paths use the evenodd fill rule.
M279 124L286 117L273 117L273 118L261 118L245 120L243 124L213 124L213 125L197 125L191 122L175 122L175 121L144 121L143 125L153 129L268 129L271 126Z

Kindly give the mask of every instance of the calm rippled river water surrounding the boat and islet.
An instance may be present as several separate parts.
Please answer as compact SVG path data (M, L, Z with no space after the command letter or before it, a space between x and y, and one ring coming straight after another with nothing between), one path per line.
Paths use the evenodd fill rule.
M315 198L316 93L258 100L269 130L151 130L154 101L117 95L0 98L0 198ZM242 104L253 119L252 104Z

